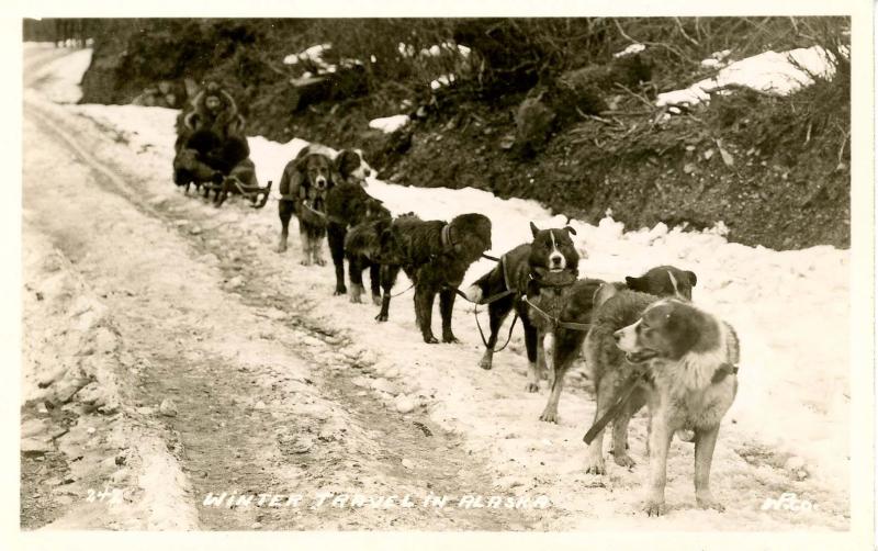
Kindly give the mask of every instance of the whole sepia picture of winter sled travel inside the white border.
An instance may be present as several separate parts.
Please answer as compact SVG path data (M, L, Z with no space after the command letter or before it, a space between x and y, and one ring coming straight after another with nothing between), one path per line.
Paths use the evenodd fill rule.
M852 530L851 16L20 25L22 533Z

